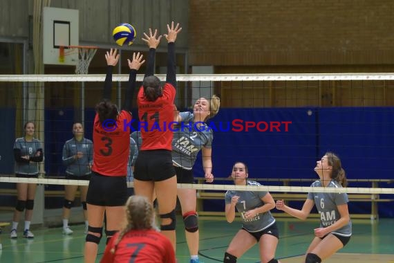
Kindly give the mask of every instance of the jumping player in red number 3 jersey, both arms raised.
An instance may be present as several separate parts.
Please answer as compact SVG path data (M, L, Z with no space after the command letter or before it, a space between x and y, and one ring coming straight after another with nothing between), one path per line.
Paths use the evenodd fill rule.
M124 215L123 206L127 199L127 161L129 157L130 131L126 124L131 122L131 101L135 89L138 69L144 63L140 53L133 53L128 60L130 75L122 111L111 102L112 69L118 64L116 50L105 55L106 78L103 100L96 106L93 123L93 168L88 186L86 203L88 208L88 234L85 243L85 262L93 263L97 247L102 238L104 212L106 212L107 242L120 229Z

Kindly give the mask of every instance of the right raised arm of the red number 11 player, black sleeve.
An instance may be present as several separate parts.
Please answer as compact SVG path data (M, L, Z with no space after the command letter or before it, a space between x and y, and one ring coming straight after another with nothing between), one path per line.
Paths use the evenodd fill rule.
M176 60L175 60L175 41L176 36L182 28L179 27L179 23L176 24L176 27L173 27L173 21L171 22L171 27L167 24L168 34L165 35L165 38L168 42L168 58L167 58L167 77L166 82L176 87Z

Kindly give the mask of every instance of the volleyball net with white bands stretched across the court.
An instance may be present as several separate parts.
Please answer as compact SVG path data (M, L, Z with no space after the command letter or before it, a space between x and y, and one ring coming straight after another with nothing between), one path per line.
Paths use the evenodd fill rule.
M158 77L165 81L165 75ZM44 184L46 190L87 185L87 181L64 179L62 148L73 138L75 122L84 125L86 138L92 138L95 105L101 100L104 78L0 75L1 188L15 188L13 183L18 182ZM118 105L125 99L128 78L113 75L112 97ZM138 85L142 78L138 75ZM368 198L361 195L363 201L394 199L394 74L177 75L178 110L193 111L198 98L214 94L221 98L221 109L207 126L214 134L215 181L201 183L204 172L198 156L194 175L200 183L178 187L205 192L200 195L205 202L214 199L214 194L207 192L225 190L338 192L310 188L317 179L313 171L316 161L326 152L334 152L349 179L340 192L369 194ZM136 109L133 116L138 116ZM39 179L13 176L13 145L15 138L24 135L28 120L35 123L35 137L44 145ZM129 128L138 130L138 122ZM245 163L249 178L263 186L234 185L229 175L237 161ZM131 179L129 186L133 186ZM390 213L388 209L385 215Z

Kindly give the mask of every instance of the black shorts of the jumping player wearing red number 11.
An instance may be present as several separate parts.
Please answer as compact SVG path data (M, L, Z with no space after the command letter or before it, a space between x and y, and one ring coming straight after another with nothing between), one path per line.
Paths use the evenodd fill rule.
M171 151L152 149L138 153L134 165L134 179L140 181L164 181L175 176Z

